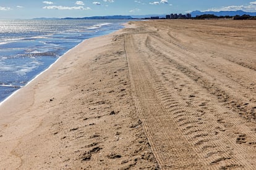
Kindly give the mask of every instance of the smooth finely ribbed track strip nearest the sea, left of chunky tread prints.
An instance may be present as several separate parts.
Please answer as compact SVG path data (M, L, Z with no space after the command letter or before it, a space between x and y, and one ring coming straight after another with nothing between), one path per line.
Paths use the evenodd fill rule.
M187 140L179 133L177 124L165 118L168 112L146 77L148 68L134 51L135 44L130 34L126 35L125 49L135 105L160 168L203 167L193 148L186 145Z

